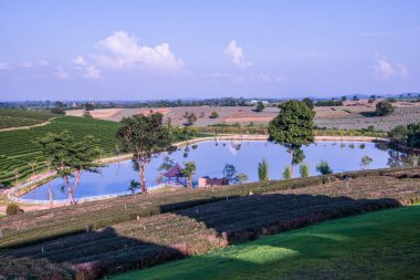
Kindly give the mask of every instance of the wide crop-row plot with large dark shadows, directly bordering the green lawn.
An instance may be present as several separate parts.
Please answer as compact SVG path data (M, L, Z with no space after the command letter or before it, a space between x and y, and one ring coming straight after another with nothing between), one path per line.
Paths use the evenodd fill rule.
M10 250L0 257L0 268L15 278L36 272L40 278L96 279L419 199L419 179L386 176L223 199ZM42 263L44 270L38 271Z

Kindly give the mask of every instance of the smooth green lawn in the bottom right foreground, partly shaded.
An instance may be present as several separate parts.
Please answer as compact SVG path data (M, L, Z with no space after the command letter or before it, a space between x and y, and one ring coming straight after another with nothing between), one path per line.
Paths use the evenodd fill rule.
M114 279L420 279L420 205L327 221Z

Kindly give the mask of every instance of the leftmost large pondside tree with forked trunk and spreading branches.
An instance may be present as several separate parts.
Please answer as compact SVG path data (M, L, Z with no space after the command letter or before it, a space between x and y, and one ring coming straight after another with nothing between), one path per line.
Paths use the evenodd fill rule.
M69 194L69 201L74 205L74 193L81 179L82 170L98 172L101 166L95 158L101 155L101 149L95 145L93 136L85 136L82 141L75 141L67 131L60 134L48 133L38 139L42 153L51 163L56 174L64 179ZM73 186L69 178L74 177Z

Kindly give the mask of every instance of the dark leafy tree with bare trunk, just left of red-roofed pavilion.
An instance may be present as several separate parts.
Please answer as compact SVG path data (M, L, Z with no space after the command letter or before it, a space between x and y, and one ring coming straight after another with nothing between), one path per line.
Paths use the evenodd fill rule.
M138 170L141 193L147 194L145 180L147 165L158 153L171 149L170 128L164 125L160 113L125 117L122 124L116 137L124 152L133 154L133 166Z

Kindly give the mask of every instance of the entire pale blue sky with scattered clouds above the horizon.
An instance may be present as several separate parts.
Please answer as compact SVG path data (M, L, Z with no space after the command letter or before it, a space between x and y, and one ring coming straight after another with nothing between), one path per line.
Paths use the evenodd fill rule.
M420 92L420 1L0 1L0 100Z

